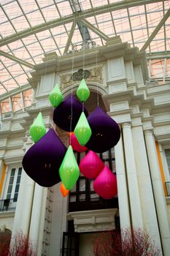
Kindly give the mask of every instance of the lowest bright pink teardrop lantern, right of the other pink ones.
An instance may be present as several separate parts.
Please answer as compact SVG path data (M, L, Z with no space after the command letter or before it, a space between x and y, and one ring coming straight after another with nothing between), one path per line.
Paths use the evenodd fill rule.
M117 195L117 181L116 176L109 170L107 165L98 174L96 180L93 183L94 191L104 199L111 199Z

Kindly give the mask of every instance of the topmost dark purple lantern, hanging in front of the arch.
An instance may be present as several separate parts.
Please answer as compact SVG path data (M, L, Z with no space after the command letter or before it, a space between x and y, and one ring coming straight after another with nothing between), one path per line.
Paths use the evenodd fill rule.
M88 111L84 109L85 116L88 116ZM58 108L55 108L53 113L53 121L55 124L66 132L73 132L77 121L82 113L82 103L79 102L74 95L63 100ZM71 126L72 118L72 126Z

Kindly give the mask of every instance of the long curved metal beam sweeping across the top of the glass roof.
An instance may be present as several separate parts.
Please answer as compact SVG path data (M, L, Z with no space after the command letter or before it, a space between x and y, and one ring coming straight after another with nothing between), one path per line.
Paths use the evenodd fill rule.
M17 41L19 39L22 39L24 37L28 37L31 36L32 34L36 34L39 33L41 31L45 31L47 29L53 29L56 26L61 26L63 24L66 23L72 23L72 21L74 20L75 17L79 17L81 18L88 18L95 15L100 15L100 14L104 14L107 12L113 12L116 10L122 10L122 9L126 9L126 8L130 8L130 7L135 7L135 6L139 6L139 5L143 5L143 4L151 4L154 2L159 2L162 0L130 0L130 1L120 1L117 3L112 3L112 4L106 4L103 5L101 7L96 7L90 10L85 10L82 12L77 12L74 13L73 15L68 15L62 18L58 18L55 20L50 20L47 23L42 23L39 24L37 26L33 26L30 29L25 29L23 31L19 31L18 34L12 34L9 37L4 37L4 39L0 39L0 46L3 45L7 45L10 42L14 42ZM165 0L165 1L169 1L169 0Z

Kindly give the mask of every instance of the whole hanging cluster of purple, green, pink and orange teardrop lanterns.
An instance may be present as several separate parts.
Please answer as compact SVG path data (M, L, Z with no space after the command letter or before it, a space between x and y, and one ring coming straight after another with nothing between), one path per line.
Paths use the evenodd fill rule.
M63 99L56 84L49 96L55 108L53 121L61 129L70 132L69 148L63 145L53 129L46 132L42 114L39 113L29 129L34 145L23 157L23 169L43 187L52 187L62 181L60 189L63 196L74 187L81 171L88 178L96 178L93 183L95 192L109 199L117 194L116 177L96 153L115 146L120 139L120 129L99 107L88 115L84 102L89 96L90 91L84 79L77 89L80 100L73 94ZM80 161L80 166L77 165L73 150L89 150Z

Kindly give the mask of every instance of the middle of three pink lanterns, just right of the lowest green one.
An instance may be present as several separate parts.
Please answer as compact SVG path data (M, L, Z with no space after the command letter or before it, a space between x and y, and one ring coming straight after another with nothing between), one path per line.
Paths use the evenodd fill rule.
M104 162L101 161L95 152L88 151L88 154L81 159L79 168L85 177L96 178L104 168Z

